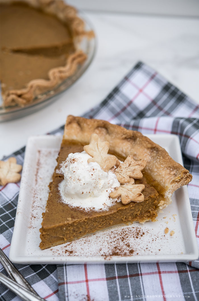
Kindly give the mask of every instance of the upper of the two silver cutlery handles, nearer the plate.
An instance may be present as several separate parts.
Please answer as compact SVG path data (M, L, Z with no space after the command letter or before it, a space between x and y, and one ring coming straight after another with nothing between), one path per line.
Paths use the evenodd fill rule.
M0 248L0 262L2 263L3 267L5 268L6 272L8 273L8 275L12 280L16 281L18 284L20 284L27 290L30 290L32 293L34 293L36 296L39 297L39 295L35 292L35 290L28 283L28 281L26 281L26 279L21 275L21 273L15 268L12 262L4 254L1 248Z

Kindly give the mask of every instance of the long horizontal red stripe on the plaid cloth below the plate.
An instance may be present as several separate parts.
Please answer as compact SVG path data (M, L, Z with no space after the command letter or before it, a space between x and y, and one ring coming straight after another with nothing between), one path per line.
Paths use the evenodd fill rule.
M195 272L197 269L189 270L189 272ZM161 274L178 274L178 273L188 273L188 270L179 270L179 271L162 271ZM148 276L148 275L157 275L159 272L146 272L146 273L136 273L136 274L130 274L130 275L122 275L122 276L113 276L113 277L107 277L107 278L95 278L95 279L87 279L87 282L93 282L93 281L109 281L109 280L115 280L115 279L123 279L123 278L132 278L132 277L139 277L139 276ZM60 282L58 285L65 285L65 284L78 284L78 283L84 283L86 280L77 280L77 281L66 281L66 282Z

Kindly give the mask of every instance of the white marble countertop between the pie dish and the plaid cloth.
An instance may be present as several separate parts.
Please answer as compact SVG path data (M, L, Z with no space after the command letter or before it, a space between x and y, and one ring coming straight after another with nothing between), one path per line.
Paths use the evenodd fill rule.
M87 13L98 39L86 73L55 103L27 117L0 123L0 158L29 136L63 125L98 104L137 61L155 68L199 103L199 20L183 17Z

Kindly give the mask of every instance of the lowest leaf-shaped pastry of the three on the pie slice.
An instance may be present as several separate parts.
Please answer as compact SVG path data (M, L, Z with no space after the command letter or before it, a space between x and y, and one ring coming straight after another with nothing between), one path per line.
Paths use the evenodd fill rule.
M141 193L145 185L134 184L134 179L130 178L129 183L117 187L109 195L113 199L121 196L122 204L126 205L130 202L143 202L144 195Z

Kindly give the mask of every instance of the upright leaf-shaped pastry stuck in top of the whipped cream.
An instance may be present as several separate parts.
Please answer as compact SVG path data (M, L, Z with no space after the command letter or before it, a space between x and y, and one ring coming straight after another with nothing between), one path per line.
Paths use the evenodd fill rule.
M115 156L108 155L109 142L102 142L97 134L90 136L90 143L84 146L84 151L92 157L88 159L88 163L97 162L103 171L106 172L108 172L117 161Z

